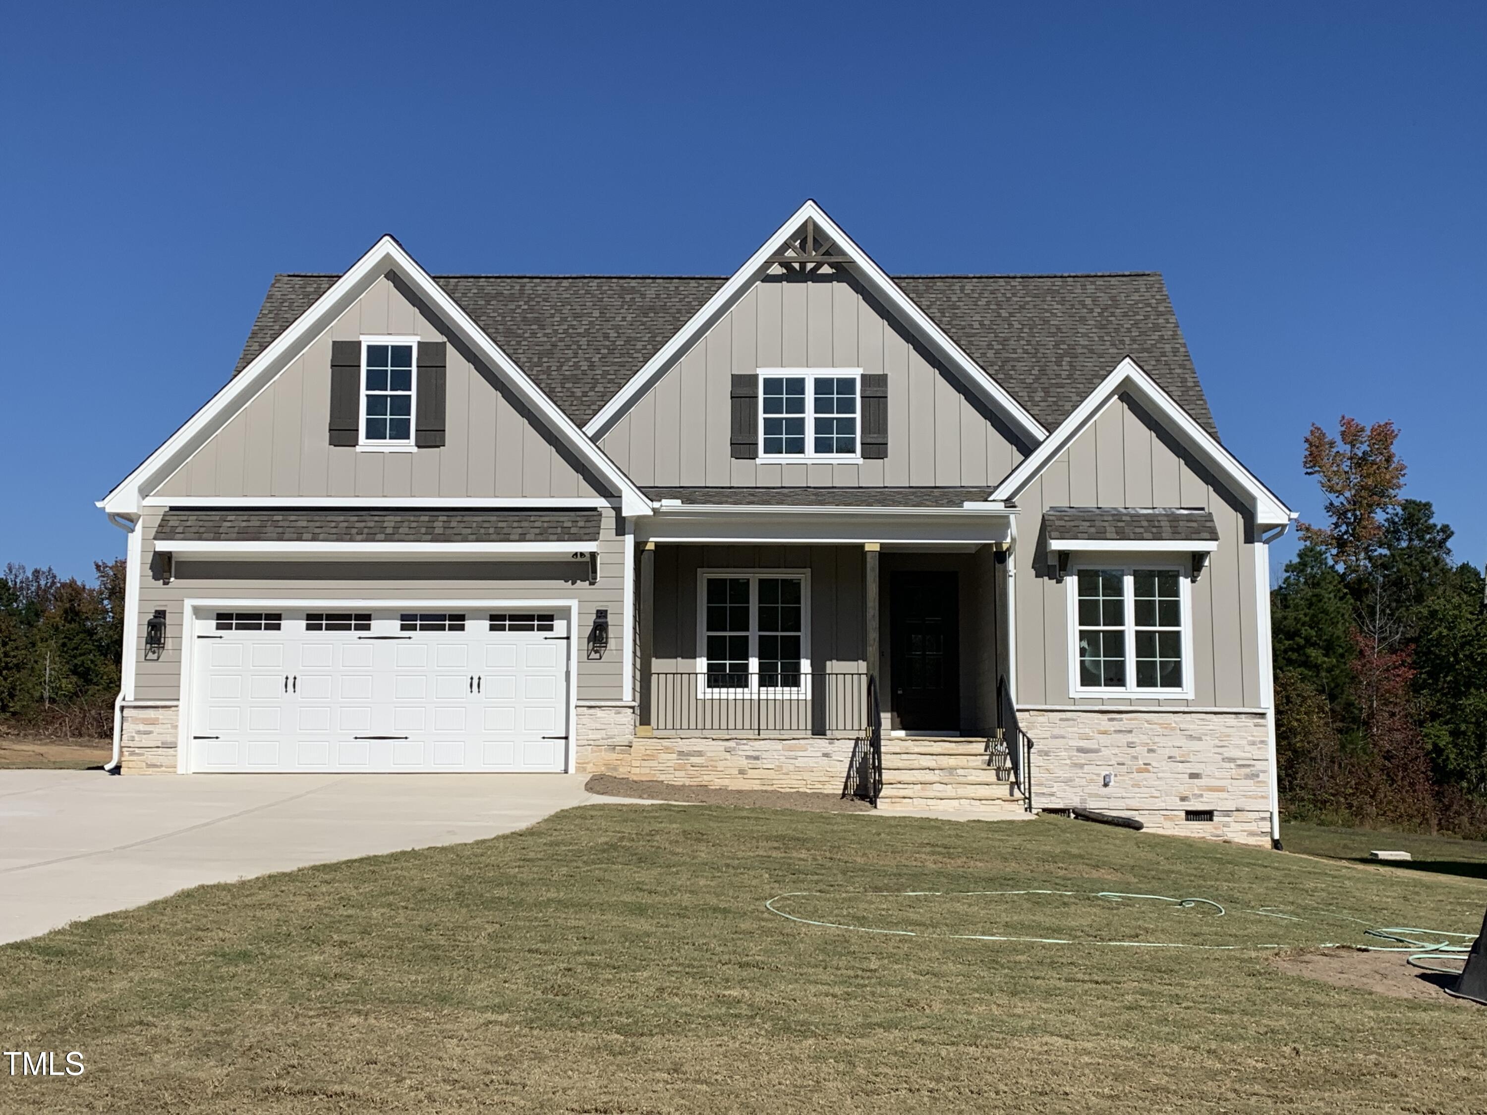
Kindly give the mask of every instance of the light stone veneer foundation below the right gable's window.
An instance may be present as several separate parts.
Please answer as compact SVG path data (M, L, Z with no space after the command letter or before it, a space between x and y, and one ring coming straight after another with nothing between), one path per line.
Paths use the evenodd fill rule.
M1017 720L1033 740L1038 809L1093 809L1138 818L1148 831L1270 844L1264 712L1019 709ZM1212 810L1213 821L1187 821L1187 810Z

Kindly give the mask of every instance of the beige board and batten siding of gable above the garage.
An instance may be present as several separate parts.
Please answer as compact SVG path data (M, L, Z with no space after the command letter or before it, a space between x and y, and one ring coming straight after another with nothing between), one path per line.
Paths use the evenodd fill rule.
M335 324L181 464L153 495L593 497L598 482L541 421L473 364L425 308L378 279ZM449 340L446 443L416 452L332 446L330 343L363 334Z

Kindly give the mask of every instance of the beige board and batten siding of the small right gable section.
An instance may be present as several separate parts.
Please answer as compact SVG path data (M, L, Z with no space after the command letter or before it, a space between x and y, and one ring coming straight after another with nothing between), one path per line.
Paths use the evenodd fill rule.
M1133 400L1106 407L1019 497L1017 703L1103 708L1261 708L1257 543L1249 513ZM1218 550L1193 590L1193 700L1078 697L1069 691L1068 584L1035 546L1048 507L1197 507ZM1182 552L1176 544L1175 552ZM1184 555L1185 556L1185 555Z

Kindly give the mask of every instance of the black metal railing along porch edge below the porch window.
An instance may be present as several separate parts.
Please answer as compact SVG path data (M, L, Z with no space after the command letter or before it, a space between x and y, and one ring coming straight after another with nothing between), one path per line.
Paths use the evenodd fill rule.
M855 736L868 690L865 672L654 672L651 730Z

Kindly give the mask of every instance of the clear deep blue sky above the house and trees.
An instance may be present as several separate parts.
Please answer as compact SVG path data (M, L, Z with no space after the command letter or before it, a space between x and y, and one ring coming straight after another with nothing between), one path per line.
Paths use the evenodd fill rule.
M275 271L733 271L803 198L889 272L1166 274L1303 517L1395 419L1487 558L1487 4L12 4L0 562L228 378ZM1291 546L1283 546L1283 553Z

